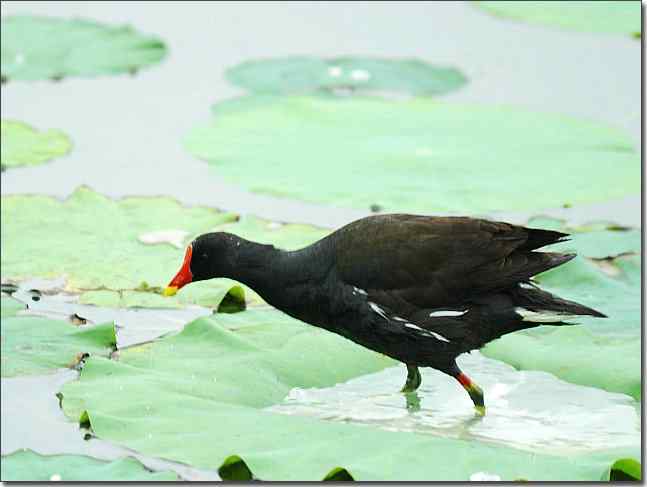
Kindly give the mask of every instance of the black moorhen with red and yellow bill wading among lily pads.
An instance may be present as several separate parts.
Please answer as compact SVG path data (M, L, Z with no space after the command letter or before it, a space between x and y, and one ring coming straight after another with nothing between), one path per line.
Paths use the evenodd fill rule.
M418 367L460 382L477 412L481 389L456 357L507 333L566 325L602 313L537 287L532 276L575 254L536 252L567 234L467 217L377 215L296 251L207 233L187 248L165 289L227 277L272 306L407 366L403 392L420 386Z

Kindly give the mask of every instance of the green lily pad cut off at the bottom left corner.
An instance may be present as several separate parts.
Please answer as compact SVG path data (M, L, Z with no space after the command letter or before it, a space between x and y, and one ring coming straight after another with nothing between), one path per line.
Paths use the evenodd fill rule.
M112 462L84 455L40 455L21 450L1 460L5 482L176 481L174 472L151 472L132 457Z

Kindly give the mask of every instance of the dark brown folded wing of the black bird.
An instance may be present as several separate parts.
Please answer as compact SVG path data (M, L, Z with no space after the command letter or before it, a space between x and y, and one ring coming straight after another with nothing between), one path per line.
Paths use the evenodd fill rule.
M554 259L532 250L563 237L476 218L404 214L364 218L332 235L339 277L400 313L528 279Z

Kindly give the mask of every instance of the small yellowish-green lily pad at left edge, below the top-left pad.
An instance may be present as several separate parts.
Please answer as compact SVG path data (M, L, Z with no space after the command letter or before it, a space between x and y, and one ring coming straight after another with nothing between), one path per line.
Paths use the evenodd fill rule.
M35 166L67 154L72 143L60 130L38 132L29 125L12 120L0 123L2 168Z

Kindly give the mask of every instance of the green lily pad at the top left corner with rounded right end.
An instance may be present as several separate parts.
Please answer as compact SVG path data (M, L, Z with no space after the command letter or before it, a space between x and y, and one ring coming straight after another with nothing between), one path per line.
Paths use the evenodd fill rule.
M29 15L2 18L5 80L134 73L165 55L161 40L127 26Z

